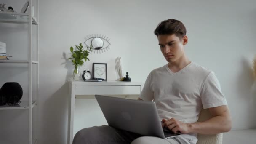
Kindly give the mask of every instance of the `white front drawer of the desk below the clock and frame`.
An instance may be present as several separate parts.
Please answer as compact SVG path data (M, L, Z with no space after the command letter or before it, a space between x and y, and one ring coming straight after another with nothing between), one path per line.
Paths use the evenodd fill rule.
M76 85L75 95L140 94L140 85Z

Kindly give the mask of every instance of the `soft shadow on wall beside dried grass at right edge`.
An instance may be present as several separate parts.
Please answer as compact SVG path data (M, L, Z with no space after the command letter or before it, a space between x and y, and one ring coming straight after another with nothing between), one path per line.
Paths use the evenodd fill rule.
M252 72L252 61L247 58L243 58L242 61L243 71L240 77L237 78L237 83L239 83L237 89L240 92L239 95L244 97L245 101L249 101L248 105L248 115L246 119L251 125L250 128L256 128L256 81L253 79Z

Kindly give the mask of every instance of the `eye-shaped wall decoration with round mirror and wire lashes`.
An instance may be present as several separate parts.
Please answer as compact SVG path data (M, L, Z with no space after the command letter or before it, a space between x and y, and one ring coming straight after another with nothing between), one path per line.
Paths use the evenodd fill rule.
M99 34L92 34L88 35L85 37L85 45L88 47L92 47L94 53L104 53L108 50L109 48L109 37L106 37L104 35L99 35Z

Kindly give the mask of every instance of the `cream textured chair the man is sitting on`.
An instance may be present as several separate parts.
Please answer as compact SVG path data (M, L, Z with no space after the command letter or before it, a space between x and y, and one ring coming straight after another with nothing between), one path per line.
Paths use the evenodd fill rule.
M202 122L211 117L212 115L208 109L202 109L198 121ZM222 133L212 135L197 134L197 139L197 144L222 144Z

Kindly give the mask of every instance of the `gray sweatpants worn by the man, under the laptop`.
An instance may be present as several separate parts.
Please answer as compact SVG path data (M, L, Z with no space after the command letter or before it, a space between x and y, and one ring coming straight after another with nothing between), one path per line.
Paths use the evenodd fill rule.
M161 139L141 136L136 133L119 130L107 125L84 128L75 134L72 144L191 144L181 136L173 139Z

